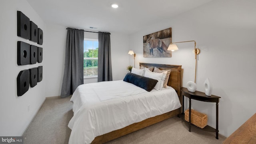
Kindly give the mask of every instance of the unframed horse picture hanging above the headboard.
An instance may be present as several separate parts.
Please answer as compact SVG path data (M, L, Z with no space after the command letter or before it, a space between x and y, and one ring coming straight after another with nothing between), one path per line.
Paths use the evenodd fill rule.
M170 58L172 52L167 48L172 42L172 28L154 32L143 36L143 57L144 58Z

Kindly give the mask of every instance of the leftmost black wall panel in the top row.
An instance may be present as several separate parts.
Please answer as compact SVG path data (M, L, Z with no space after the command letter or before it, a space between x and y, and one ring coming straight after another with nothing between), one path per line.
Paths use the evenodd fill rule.
M30 20L20 11L17 11L17 35L27 40L30 39Z

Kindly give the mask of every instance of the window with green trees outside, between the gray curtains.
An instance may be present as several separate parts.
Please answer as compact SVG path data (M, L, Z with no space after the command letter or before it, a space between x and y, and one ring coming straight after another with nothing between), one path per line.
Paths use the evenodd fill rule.
M98 40L84 39L84 78L98 76L98 48Z

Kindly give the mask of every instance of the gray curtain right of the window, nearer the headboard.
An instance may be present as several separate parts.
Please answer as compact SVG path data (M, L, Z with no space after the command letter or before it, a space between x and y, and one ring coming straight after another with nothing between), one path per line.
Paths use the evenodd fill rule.
M99 32L98 82L112 80L110 33Z

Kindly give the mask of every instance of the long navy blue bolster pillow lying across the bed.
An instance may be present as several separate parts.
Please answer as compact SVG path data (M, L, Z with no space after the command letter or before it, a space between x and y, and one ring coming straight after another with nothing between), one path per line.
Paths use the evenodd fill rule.
M132 83L140 88L143 88L144 90L150 92L155 86L158 80L154 80L152 78L147 78L144 76L139 76L137 74L128 73L124 77L125 82Z

